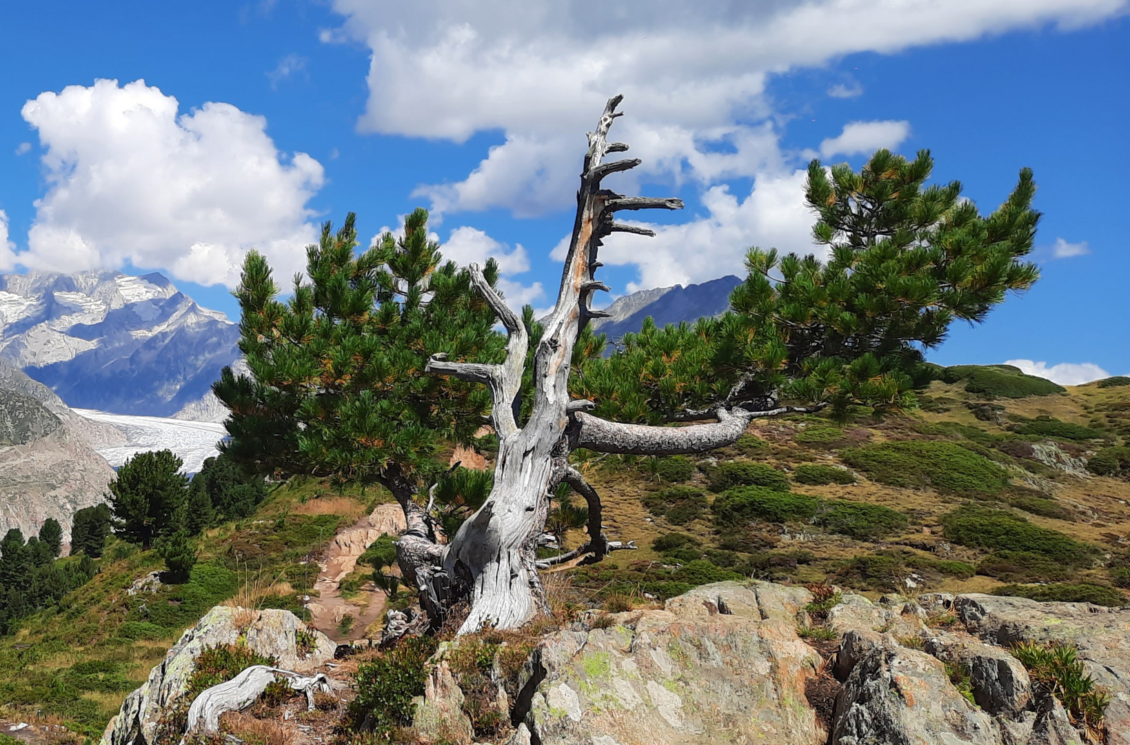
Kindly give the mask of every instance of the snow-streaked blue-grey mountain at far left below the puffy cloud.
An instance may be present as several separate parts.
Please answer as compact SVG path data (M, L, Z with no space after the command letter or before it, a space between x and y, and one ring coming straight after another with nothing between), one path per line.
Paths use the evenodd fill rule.
M238 336L160 274L0 275L0 358L72 407L172 416L238 358Z

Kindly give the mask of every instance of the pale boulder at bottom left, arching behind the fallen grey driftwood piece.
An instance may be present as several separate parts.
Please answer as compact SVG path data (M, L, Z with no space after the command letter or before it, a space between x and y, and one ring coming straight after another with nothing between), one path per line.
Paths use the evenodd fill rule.
M320 667L333 658L337 649L325 634L307 627L289 610L217 606L185 631L145 684L125 698L118 716L106 726L102 745L155 745L162 719L175 705L191 703L181 699L200 652L237 643L273 657L279 667L296 673Z

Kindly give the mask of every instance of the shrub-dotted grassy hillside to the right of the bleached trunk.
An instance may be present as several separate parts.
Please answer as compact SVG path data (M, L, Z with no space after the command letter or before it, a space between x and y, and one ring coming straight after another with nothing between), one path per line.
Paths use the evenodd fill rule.
M731 573L1123 603L1130 384L1063 389L1003 365L938 378L909 414L756 422L705 458L588 459L609 536L641 548L574 584L612 603Z

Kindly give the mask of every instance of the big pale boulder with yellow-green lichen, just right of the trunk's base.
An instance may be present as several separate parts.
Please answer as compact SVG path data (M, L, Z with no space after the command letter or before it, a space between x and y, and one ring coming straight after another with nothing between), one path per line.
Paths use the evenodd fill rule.
M542 745L767 742L816 745L807 705L822 659L796 633L807 590L707 584L663 610L545 639L524 724ZM522 733L520 730L519 736Z

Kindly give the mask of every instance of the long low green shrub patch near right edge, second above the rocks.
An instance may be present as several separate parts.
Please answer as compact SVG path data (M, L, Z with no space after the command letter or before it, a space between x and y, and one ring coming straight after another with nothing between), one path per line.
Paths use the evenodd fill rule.
M964 505L946 514L942 527L947 538L963 546L1036 554L1063 566L1089 566L1098 553L1089 544L1034 526L1008 510Z

